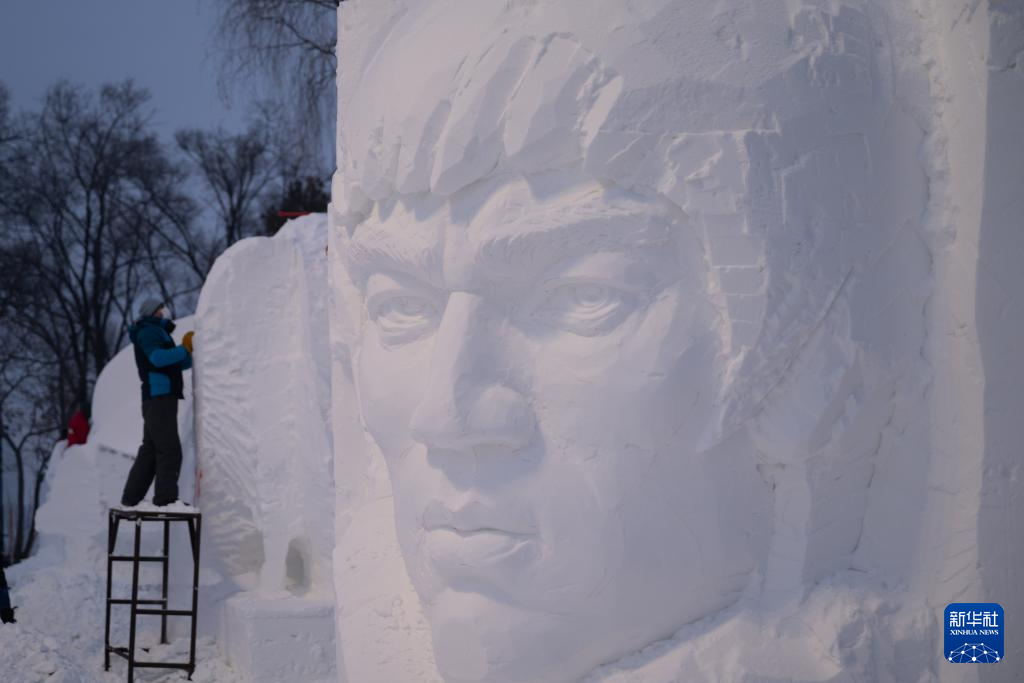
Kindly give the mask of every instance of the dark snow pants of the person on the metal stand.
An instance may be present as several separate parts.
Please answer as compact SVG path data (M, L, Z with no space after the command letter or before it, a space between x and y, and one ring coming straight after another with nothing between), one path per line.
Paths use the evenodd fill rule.
M181 441L178 439L178 399L166 395L142 401L142 445L128 473L122 505L138 505L153 478L154 505L168 505L178 500L178 474L181 473Z

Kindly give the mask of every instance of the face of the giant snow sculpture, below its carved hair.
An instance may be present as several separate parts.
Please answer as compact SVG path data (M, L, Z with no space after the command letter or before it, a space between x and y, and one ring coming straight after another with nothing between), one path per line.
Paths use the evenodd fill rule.
M687 447L721 374L699 245L657 201L535 181L395 208L351 245L364 418L453 680L566 680L755 566L764 483Z

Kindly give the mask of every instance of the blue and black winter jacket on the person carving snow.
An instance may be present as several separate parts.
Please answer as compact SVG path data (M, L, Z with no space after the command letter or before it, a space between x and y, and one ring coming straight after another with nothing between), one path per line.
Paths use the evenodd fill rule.
M142 400L166 396L184 398L181 371L191 368L191 355L171 339L174 323L162 317L142 317L128 328L135 347L135 367L142 382Z

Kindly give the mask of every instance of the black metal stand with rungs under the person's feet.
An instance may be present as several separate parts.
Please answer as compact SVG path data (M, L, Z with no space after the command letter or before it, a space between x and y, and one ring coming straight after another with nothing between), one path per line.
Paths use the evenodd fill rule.
M135 523L133 552L130 555L116 555L118 528L122 521ZM164 525L164 547L160 555L143 555L142 522L158 522ZM193 589L191 609L169 609L167 606L167 579L171 549L171 522L184 522L188 525L188 540L193 554ZM188 680L196 673L196 617L199 613L199 546L203 526L203 516L196 512L162 512L152 510L133 510L112 508L106 526L106 627L103 636L103 670L111 670L111 654L117 654L128 660L128 683L133 683L135 669L181 669L188 672ZM115 598L112 595L114 583L114 563L131 562L131 597ZM138 573L142 562L157 562L161 565L161 597L138 597ZM128 631L128 646L111 645L111 607L114 605L129 605L131 607L131 623ZM139 615L160 616L160 642L167 643L167 617L188 616L191 618L191 641L188 646L188 661L140 661L135 658L135 631Z

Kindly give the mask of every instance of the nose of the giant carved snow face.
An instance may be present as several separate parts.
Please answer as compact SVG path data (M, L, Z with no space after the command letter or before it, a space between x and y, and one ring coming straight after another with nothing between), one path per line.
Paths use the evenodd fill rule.
M497 382L506 375L496 345L499 321L478 296L449 297L434 340L428 386L413 413L413 438L427 446L518 450L534 433L534 413L521 393Z

